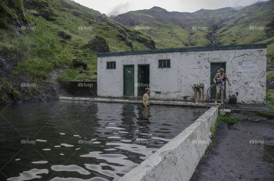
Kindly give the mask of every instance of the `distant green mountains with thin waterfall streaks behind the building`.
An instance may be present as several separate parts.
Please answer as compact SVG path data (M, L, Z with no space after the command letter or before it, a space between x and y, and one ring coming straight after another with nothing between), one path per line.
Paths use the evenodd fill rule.
M274 61L273 9L274 0L270 0L194 13L153 7L112 18L152 36L156 48L267 43L267 60Z

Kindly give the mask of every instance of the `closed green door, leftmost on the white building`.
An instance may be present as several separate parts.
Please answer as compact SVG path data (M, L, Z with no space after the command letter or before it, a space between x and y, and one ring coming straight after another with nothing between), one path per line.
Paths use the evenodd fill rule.
M134 95L134 65L124 65L124 95Z

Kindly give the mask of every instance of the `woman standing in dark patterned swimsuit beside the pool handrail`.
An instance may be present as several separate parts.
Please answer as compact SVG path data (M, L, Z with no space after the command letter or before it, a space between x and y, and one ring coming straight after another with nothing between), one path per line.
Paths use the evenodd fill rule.
M229 81L227 75L225 74L225 69L220 68L220 72L217 73L213 79L214 83L217 85L220 85L223 87L223 90L225 90L225 79L228 82L228 85L231 86L231 82ZM215 103L217 103L217 98L220 93L220 87L216 86L216 98L215 98ZM221 91L221 105L223 105L223 91Z

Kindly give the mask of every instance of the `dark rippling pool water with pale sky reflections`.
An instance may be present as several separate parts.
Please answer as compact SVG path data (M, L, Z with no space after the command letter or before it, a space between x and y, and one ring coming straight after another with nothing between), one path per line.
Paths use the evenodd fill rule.
M60 100L0 112L0 180L100 181L119 179L205 109Z

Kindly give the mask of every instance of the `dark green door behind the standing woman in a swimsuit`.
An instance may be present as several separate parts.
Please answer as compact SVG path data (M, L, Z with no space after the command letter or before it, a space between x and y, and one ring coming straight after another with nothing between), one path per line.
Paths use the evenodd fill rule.
M213 82L213 79L214 79L216 73L219 72L220 68L225 69L225 63L211 63L211 64L210 64L210 72L211 72L211 74L210 74L210 85L215 84L215 83ZM215 86L215 87L217 87L217 86ZM212 89L211 89L211 91L210 91L210 92L211 92L211 93L210 93L210 96L211 96L211 98L213 98L213 99L215 99L215 96L216 96L216 88L215 88L215 87L212 87ZM220 91L222 91L222 90L220 90ZM224 95L224 96L225 96L225 95ZM220 92L220 94L219 94L218 99L221 99L221 92Z

